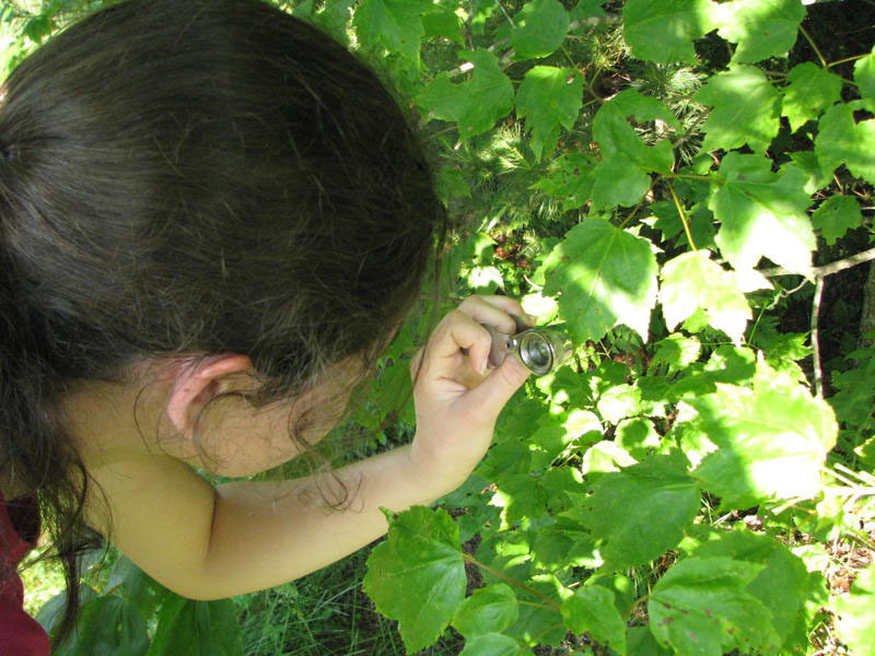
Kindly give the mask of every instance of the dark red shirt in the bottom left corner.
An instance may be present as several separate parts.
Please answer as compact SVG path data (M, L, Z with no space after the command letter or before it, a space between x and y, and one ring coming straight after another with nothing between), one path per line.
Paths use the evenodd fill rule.
M0 494L0 654L49 656L48 635L24 612L24 586L18 573L21 559L35 547L39 535L39 511L30 497L7 505Z

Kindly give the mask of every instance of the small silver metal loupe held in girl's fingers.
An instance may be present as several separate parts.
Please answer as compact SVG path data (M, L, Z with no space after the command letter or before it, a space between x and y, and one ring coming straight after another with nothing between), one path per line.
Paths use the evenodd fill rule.
M571 359L574 347L562 326L528 328L516 317L518 332L505 335L488 324L481 324L492 335L492 349L489 351L489 368L498 368L509 353L516 355L536 376L556 371Z

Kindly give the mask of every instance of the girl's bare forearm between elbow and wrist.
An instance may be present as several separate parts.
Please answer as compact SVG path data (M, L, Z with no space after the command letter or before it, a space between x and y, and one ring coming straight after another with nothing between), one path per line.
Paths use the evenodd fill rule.
M196 596L241 595L319 570L386 532L381 507L404 511L450 492L429 489L408 453L402 446L339 469L350 495L342 509L329 507L316 477L219 485ZM334 484L323 479L328 501Z

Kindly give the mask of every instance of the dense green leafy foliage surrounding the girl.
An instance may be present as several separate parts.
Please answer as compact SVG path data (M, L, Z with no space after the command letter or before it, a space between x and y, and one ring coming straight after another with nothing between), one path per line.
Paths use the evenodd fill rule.
M50 27L58 4L33 20ZM455 293L521 297L576 344L512 399L460 490L387 513L364 587L408 653L450 626L465 656L872 653L875 348L862 279L839 272L875 258L875 50L871 30L830 37L818 12L836 4L867 7L293 8L421 117L443 197L469 219ZM365 429L413 423L393 405L413 328ZM228 606L127 566L85 606L80 646L238 653L231 629L207 630ZM171 632L190 645L168 652Z

